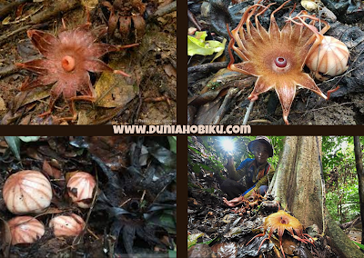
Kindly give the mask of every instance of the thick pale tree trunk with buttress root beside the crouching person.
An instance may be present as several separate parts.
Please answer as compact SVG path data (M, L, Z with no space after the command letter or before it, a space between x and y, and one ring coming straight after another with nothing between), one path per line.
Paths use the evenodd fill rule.
M320 233L329 236L340 258L363 258L364 254L330 217L323 184L321 137L287 136L269 190L304 226L317 224Z

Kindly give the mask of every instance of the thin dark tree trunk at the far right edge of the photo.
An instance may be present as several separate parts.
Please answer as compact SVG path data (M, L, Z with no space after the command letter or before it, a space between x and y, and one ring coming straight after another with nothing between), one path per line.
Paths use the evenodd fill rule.
M361 221L364 222L364 171L359 136L354 136L354 153L359 181L360 215ZM364 223L361 225L361 243L364 244Z

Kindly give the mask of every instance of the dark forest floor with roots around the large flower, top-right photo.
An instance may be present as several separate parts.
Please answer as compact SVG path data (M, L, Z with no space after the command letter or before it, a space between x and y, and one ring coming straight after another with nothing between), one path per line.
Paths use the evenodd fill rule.
M364 62L364 42L362 41L364 4L359 3L357 7L351 6L351 4L346 5L343 8L349 8L345 13L343 10L336 10L337 5L334 6L330 1L327 2L319 3L319 14L318 10L312 10L309 14L322 15L323 19L331 25L326 35L339 38L348 45L349 69L345 74L330 78L328 81L316 80L316 84L324 94L339 86L339 90L331 94L329 101L325 101L319 95L306 89L298 89L288 115L290 124L364 123L364 88L360 86L364 82L364 70L361 68ZM344 3L344 1L339 2ZM230 30L234 29L244 10L247 6L253 5L253 1L229 3L228 1L209 0L188 3L190 11L188 27L192 32L193 28L197 31L207 31L206 40L208 41L221 43L227 39L225 51L214 62L212 59L216 54L189 56L188 122L190 124L242 124L249 104L248 96L253 91L256 77L226 69L229 61L227 44L230 40L226 25L229 25ZM267 5L264 1L262 3ZM271 6L270 10L274 10L282 3L283 1L278 1L278 4ZM288 3L275 14L280 28L284 25L285 17L289 15L294 4L297 4L295 14L304 10L300 1ZM340 12L344 12L345 15ZM259 18L266 29L269 26L270 14L271 11L268 11ZM254 17L251 18L251 21L254 25ZM238 55L235 55L235 63L239 62L241 61L239 61ZM309 72L307 67L305 72ZM284 124L282 108L274 91L259 94L249 115L248 124Z

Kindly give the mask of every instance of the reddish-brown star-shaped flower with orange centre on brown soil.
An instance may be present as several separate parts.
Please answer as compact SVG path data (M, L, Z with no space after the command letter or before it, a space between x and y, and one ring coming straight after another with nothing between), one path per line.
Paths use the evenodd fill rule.
M96 92L88 72L106 71L129 76L123 71L112 69L99 58L108 52L119 51L137 44L96 43L96 36L91 33L89 28L90 23L86 23L76 29L63 31L58 37L39 30L27 32L33 45L45 58L15 64L38 74L33 81L27 78L20 90L25 91L38 86L54 84L51 89L49 109L40 116L50 114L56 99L63 94L73 114L63 120L76 120L75 100L96 101ZM77 92L80 95L76 95Z

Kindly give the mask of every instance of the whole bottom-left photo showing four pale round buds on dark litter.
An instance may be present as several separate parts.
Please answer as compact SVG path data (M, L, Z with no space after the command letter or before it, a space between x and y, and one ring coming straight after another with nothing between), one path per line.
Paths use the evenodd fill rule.
M177 257L176 137L0 145L0 257Z

